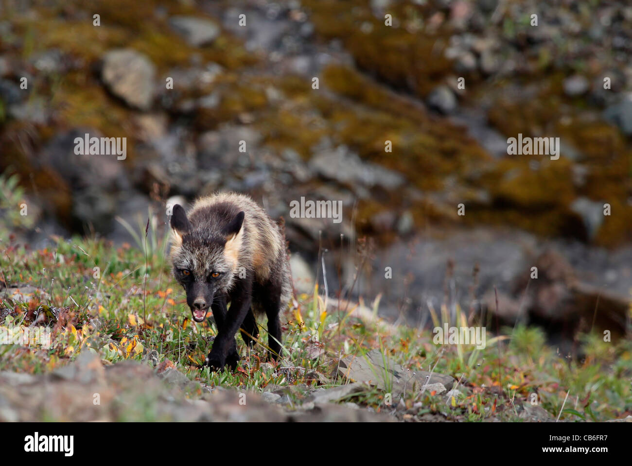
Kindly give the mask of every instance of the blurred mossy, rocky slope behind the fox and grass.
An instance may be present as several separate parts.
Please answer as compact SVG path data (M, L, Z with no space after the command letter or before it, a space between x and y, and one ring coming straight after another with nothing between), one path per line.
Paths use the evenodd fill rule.
M2 0L0 238L134 244L234 190L284 218L300 292L624 335L631 51L623 0ZM561 157L507 155L519 133ZM291 218L301 196L343 221Z

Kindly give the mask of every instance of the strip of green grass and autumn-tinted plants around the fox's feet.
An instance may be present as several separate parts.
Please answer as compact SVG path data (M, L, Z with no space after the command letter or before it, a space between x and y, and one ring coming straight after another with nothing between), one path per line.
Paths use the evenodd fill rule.
M3 239L0 280L9 289L13 285L39 287L47 296L15 301L0 290L0 323L33 325L33 311L44 311L46 318L37 325L51 327L52 345L46 350L0 345L0 370L46 373L73 361L87 348L97 351L105 364L140 361L143 354L155 350L160 362L173 362L202 385L262 391L287 387L292 405L296 405L322 383L310 371L328 377L339 354L362 357L368 350L382 349L391 361L411 371L432 369L453 376L466 393L446 398L445 393L411 392L403 400L393 394L392 405L387 405L384 391L367 388L339 402L351 401L377 411L391 411L404 403L408 413L439 414L453 421L492 417L519 421L516 407L537 393L538 404L562 420L604 421L632 412L629 340L606 343L599 335L586 335L583 361L558 355L544 344L540 330L521 326L506 329L506 335L488 335L485 349L435 345L429 330L401 326L388 331L379 321L362 320L348 311L337 313L330 308L325 312L318 288L312 296L297 297L296 306L284 311L283 354L278 362L264 364L267 332L262 323L262 344L251 352L237 338L242 359L236 372L200 369L216 329L208 322L190 320L185 296L171 277L166 244L160 236L149 231L145 235L143 225L139 237L142 244L137 247L115 248L103 240L73 237L57 239L54 247L40 251ZM147 248L145 241L151 243ZM441 316L433 313L432 317L440 324L449 320L444 308ZM465 319L460 309L457 319ZM379 369L375 378L383 378L387 387L392 386L389 374ZM330 380L324 386L343 383Z

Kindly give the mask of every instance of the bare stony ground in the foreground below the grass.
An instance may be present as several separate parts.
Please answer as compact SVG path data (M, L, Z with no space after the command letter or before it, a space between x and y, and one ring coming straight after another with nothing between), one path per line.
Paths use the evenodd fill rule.
M157 355L157 352L154 352ZM102 361L97 352L85 350L76 361L47 374L33 375L0 371L0 420L15 421L188 421L188 422L446 422L441 414L420 414L422 402L406 407L398 403L399 395L408 391L432 392L449 397L463 397L451 390L449 376L420 371L415 378L399 364L388 367L399 380L387 387L376 371L384 369L379 351L367 359L348 357L338 364L341 376L360 380L332 388L310 388L302 385L268 386L264 391L211 387L192 381L170 361L152 367L150 354L142 362L123 361L112 364ZM103 362L106 362L104 366ZM377 369L372 369L372 365ZM391 362L392 364L392 362ZM155 366L155 362L154 362ZM262 367L262 371L275 371ZM382 367L380 367L382 366ZM331 383L322 374L323 384ZM428 380L428 376L430 376ZM378 378L377 384L375 382ZM386 378L384 380L387 380ZM427 381L428 383L425 383ZM360 407L345 399L359 396L376 386L396 393L396 402L380 412ZM408 385L408 387L406 386ZM552 421L538 406L520 405L520 419L535 422Z

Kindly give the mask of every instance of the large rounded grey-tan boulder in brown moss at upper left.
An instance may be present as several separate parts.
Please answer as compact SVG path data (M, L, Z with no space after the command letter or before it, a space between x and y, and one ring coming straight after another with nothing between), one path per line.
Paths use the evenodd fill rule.
M103 56L101 79L116 97L140 110L148 110L154 98L155 67L133 49L115 49Z

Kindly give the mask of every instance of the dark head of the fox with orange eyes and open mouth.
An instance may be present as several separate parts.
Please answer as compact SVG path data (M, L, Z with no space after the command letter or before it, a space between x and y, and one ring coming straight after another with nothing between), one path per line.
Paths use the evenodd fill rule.
M173 275L185 289L196 322L204 321L214 299L228 294L237 273L244 213L224 225L193 225L184 208L173 206ZM219 227L218 227L219 226Z

